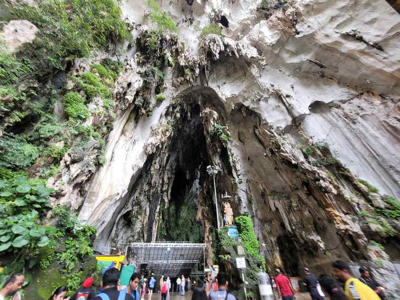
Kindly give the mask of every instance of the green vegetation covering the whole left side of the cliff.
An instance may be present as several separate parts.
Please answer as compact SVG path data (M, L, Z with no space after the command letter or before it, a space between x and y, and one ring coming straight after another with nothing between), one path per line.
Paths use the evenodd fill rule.
M0 50L0 129L5 132L0 137L0 255L13 259L0 282L12 273L24 271L28 278L30 272L52 268L57 277L52 282L68 284L72 292L82 276L91 275L80 264L93 254L95 228L82 225L70 208L52 209L53 190L45 182L59 172L71 147L84 153L93 145L98 152L93 163L101 160L115 118L111 88L121 67L105 59L89 72L68 72L75 59L89 57L90 62L93 51L116 47L130 33L114 0L36 0L35 6L16 2L7 10L6 22L28 20L38 31L15 54ZM94 97L103 104L89 112ZM62 104L69 120L59 110ZM84 125L90 116L91 125ZM95 264L89 269L95 271ZM30 285L45 289L41 284ZM48 297L47 289L39 294Z

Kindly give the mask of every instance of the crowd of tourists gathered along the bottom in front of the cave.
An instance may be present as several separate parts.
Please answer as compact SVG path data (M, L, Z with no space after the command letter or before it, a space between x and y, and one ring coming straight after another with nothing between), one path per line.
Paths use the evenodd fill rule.
M369 271L360 268L360 279L352 275L349 265L343 261L332 263L333 277L323 274L318 279L308 268L304 268L304 285L308 287L312 300L323 300L328 297L331 300L379 300L385 299L386 286L371 277ZM275 270L274 282L280 300L296 299L295 291L289 278L282 274L280 269ZM144 300L148 292L151 300L155 289L156 279L151 275L149 280L138 273L133 273L127 286L120 285L120 271L116 268L107 270L102 278L101 288L96 293L93 288L93 278L83 281L81 288L75 291L71 297L67 297L68 289L65 286L58 287L48 300ZM343 285L341 285L338 279ZM21 300L19 290L25 281L23 274L13 274L0 290L0 300L11 296L11 300ZM147 288L148 282L148 288ZM158 292L161 299L167 300L171 291L171 280L164 276L160 278ZM176 280L177 292L182 296L185 289L191 290L190 278L183 275ZM228 292L228 278L223 272L219 272L213 279L205 279L193 289L192 300L236 300L235 296ZM186 287L186 288L185 288ZM27 297L29 298L29 297Z

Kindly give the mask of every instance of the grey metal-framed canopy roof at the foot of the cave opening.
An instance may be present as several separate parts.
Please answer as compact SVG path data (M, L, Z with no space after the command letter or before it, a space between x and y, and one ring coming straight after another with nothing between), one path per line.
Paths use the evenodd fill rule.
M205 249L206 244L190 242L132 243L126 255L130 263L155 276L175 277L187 276L196 265L204 264Z

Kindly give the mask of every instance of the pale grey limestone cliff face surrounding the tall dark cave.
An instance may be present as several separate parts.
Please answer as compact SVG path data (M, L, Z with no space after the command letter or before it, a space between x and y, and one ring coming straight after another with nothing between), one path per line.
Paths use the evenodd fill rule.
M63 189L55 202L71 202L98 228L98 245L122 252L132 241L213 242L206 167L219 165L217 192L234 196L235 215L253 218L269 266L296 274L304 265L328 272L335 259L368 261L395 291L400 224L375 209L389 208L382 194L400 194L400 15L383 0L160 4L179 29L162 50L176 55L166 98L152 102L151 115L135 106L149 66L131 47L107 163L82 177L90 159L75 165L67 153L51 182ZM122 9L134 37L146 36L146 5L128 0ZM210 22L224 36L201 36Z

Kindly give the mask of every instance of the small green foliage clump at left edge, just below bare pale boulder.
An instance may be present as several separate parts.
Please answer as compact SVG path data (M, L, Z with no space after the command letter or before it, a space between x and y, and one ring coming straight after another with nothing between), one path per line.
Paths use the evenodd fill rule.
M0 84L8 85L28 73L30 68L13 54L0 50Z

